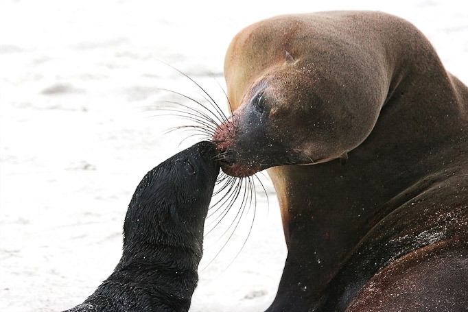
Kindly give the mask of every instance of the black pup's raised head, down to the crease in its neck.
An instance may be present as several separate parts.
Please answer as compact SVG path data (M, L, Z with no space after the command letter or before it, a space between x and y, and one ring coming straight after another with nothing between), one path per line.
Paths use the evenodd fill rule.
M124 244L150 240L184 245L193 240L189 237L201 242L219 170L213 145L204 141L149 171L130 202Z

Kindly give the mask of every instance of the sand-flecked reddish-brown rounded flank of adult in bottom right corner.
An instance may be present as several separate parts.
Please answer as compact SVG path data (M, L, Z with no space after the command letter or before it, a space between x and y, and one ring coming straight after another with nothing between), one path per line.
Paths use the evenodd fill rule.
M468 280L467 259L457 239L414 250L368 280L347 312L468 311L466 289L460 287Z

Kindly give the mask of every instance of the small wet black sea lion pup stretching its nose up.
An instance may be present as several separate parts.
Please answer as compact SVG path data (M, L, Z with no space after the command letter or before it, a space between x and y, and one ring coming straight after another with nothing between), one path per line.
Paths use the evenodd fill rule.
M219 167L211 143L149 171L128 207L120 262L74 311L188 311Z

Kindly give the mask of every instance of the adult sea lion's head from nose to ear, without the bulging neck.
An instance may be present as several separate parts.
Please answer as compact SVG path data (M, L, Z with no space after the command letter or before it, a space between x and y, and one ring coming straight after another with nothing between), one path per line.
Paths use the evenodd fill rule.
M346 106L334 105L333 86L301 60L262 73L213 135L222 170L250 176L278 165L322 163L352 149L353 118Z

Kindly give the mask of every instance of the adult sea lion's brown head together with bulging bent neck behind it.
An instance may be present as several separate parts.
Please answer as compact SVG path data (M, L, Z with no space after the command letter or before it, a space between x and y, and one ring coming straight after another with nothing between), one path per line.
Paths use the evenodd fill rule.
M388 94L386 60L372 46L353 49L339 19L319 19L277 16L233 38L224 59L233 115L213 135L229 175L345 158L372 131Z

